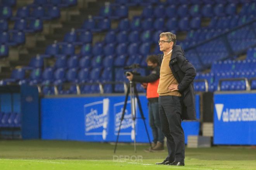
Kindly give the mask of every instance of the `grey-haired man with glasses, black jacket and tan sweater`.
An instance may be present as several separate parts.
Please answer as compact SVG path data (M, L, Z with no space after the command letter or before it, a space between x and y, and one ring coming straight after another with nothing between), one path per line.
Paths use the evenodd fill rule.
M167 139L168 156L157 165L184 166L185 137L182 120L195 119L193 80L194 66L185 58L181 46L175 45L176 35L171 32L160 34L158 55L160 80L159 115L164 136Z

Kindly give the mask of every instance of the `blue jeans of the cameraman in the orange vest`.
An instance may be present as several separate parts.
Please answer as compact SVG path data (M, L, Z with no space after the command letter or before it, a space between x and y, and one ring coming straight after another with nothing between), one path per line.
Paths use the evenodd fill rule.
M157 141L164 143L164 134L162 133L162 127L159 117L159 103L149 102L149 125L152 129L153 142Z

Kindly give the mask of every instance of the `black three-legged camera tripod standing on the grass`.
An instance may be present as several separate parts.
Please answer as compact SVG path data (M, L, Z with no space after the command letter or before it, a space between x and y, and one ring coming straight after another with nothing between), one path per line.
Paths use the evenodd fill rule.
M122 115L121 115L121 119L120 119L120 124L119 124L119 130L118 130L118 136L116 138L116 145L115 145L115 149L114 149L114 153L116 153L116 147L117 147L117 143L118 143L118 138L119 138L119 133L120 133L120 130L121 130L121 124L122 124L122 121L123 119L125 118L125 109L126 109L126 105L127 105L127 100L128 100L128 95L130 93L130 100L131 100L131 117L132 117L132 120L133 120L133 127L134 127L134 152L136 153L136 129L135 129L135 120L138 119L136 117L136 105L135 105L135 97L137 99L137 103L138 103L138 108L140 110L140 119L143 120L144 122L144 126L145 126L145 129L146 129L146 132L147 132L147 137L149 139L149 145L150 147L152 148L151 146L151 142L150 142L150 138L149 138L149 132L147 131L147 126L146 126L146 123L145 123L145 117L144 117L144 114L142 112L142 107L141 107L141 103L140 103L140 99L138 97L138 91L137 91L137 88L136 88L136 83L135 82L131 82L128 84L128 88L127 88L127 91L126 91L126 95L125 95L125 104L124 104L124 108L123 108L123 112L122 112Z

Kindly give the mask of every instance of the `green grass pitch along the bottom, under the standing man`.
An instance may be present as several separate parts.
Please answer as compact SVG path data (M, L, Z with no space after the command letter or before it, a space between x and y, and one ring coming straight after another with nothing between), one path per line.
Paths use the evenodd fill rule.
M214 146L186 148L185 167L155 165L167 150L146 153L148 146L76 141L0 141L0 170L256 170L256 149Z

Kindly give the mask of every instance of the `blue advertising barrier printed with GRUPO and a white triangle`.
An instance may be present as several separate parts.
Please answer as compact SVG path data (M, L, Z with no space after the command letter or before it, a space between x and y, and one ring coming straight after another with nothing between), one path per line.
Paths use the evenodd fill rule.
M256 145L256 93L214 94L214 144Z

